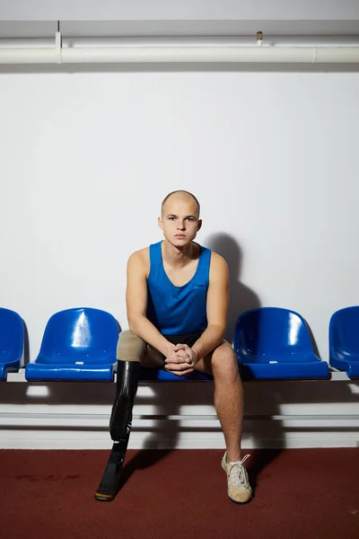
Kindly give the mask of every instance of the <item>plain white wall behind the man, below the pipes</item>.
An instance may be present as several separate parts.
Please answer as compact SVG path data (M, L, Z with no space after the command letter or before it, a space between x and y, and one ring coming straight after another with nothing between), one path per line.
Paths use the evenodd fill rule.
M231 323L293 308L328 359L330 314L359 304L358 95L358 74L0 75L0 305L31 359L57 310L127 327L127 257L175 189L231 262Z

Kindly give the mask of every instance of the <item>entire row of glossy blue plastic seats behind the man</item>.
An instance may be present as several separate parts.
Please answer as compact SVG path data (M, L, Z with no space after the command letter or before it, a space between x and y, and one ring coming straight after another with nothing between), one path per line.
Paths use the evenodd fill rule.
M244 379L328 378L329 365L359 376L359 306L340 309L329 323L329 364L314 352L301 314L260 307L240 314L233 340ZM25 366L28 381L112 381L121 331L105 311L74 308L48 320L39 355ZM0 308L0 379L22 367L24 324L12 310ZM161 369L142 368L142 380L204 380L199 373L178 377Z

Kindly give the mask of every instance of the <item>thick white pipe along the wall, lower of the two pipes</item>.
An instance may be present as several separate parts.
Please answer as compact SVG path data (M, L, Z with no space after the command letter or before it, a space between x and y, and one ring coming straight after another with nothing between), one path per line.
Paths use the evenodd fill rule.
M59 35L58 35L59 34ZM359 63L359 47L142 46L0 48L0 64Z

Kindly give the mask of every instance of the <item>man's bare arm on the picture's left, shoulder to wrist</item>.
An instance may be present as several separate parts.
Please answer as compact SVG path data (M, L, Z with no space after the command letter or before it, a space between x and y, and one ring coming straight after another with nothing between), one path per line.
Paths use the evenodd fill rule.
M131 331L158 349L167 358L173 345L146 317L147 309L147 266L144 251L134 252L127 262L127 320Z

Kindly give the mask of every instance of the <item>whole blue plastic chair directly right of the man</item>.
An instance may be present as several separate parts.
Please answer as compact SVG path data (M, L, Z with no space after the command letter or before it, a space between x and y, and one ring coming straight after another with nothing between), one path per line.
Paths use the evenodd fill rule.
M260 307L238 317L233 340L244 378L328 378L328 363L311 346L308 327L298 313Z

